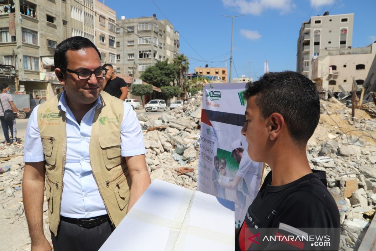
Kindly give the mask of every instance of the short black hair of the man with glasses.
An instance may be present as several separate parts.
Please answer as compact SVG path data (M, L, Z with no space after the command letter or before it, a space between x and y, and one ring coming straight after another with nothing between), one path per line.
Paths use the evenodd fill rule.
M58 46L56 46L54 63L56 68L67 68L67 50L81 50L83 48L93 47L100 58L100 52L98 48L87 38L84 37L70 37L62 41Z

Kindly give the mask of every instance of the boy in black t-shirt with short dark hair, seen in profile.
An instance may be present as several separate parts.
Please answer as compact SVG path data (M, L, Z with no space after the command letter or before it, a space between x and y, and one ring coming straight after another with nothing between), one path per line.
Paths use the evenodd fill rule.
M235 232L236 250L338 250L337 205L306 156L320 118L315 85L293 71L268 73L247 84L244 99L249 157L271 172Z

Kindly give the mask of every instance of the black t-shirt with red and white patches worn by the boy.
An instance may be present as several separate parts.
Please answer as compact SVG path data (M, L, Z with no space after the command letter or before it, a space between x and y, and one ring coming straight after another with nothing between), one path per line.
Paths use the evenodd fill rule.
M235 237L236 250L338 250L338 207L325 172L312 171L282 186L271 186L268 173Z

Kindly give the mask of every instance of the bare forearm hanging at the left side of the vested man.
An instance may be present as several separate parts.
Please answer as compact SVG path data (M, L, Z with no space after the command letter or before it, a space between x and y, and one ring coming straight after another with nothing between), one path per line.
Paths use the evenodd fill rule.
M30 170L31 172L35 171L33 168L25 165L22 193L32 245L39 245L45 241L43 232L44 176L35 178L30 173Z

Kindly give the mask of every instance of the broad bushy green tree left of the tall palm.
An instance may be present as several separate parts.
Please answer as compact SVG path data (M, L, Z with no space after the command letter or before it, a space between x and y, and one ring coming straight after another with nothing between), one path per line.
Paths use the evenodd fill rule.
M148 67L141 79L156 87L169 86L174 82L177 76L177 68L174 64L168 64L168 59L165 61L158 61L155 65Z

